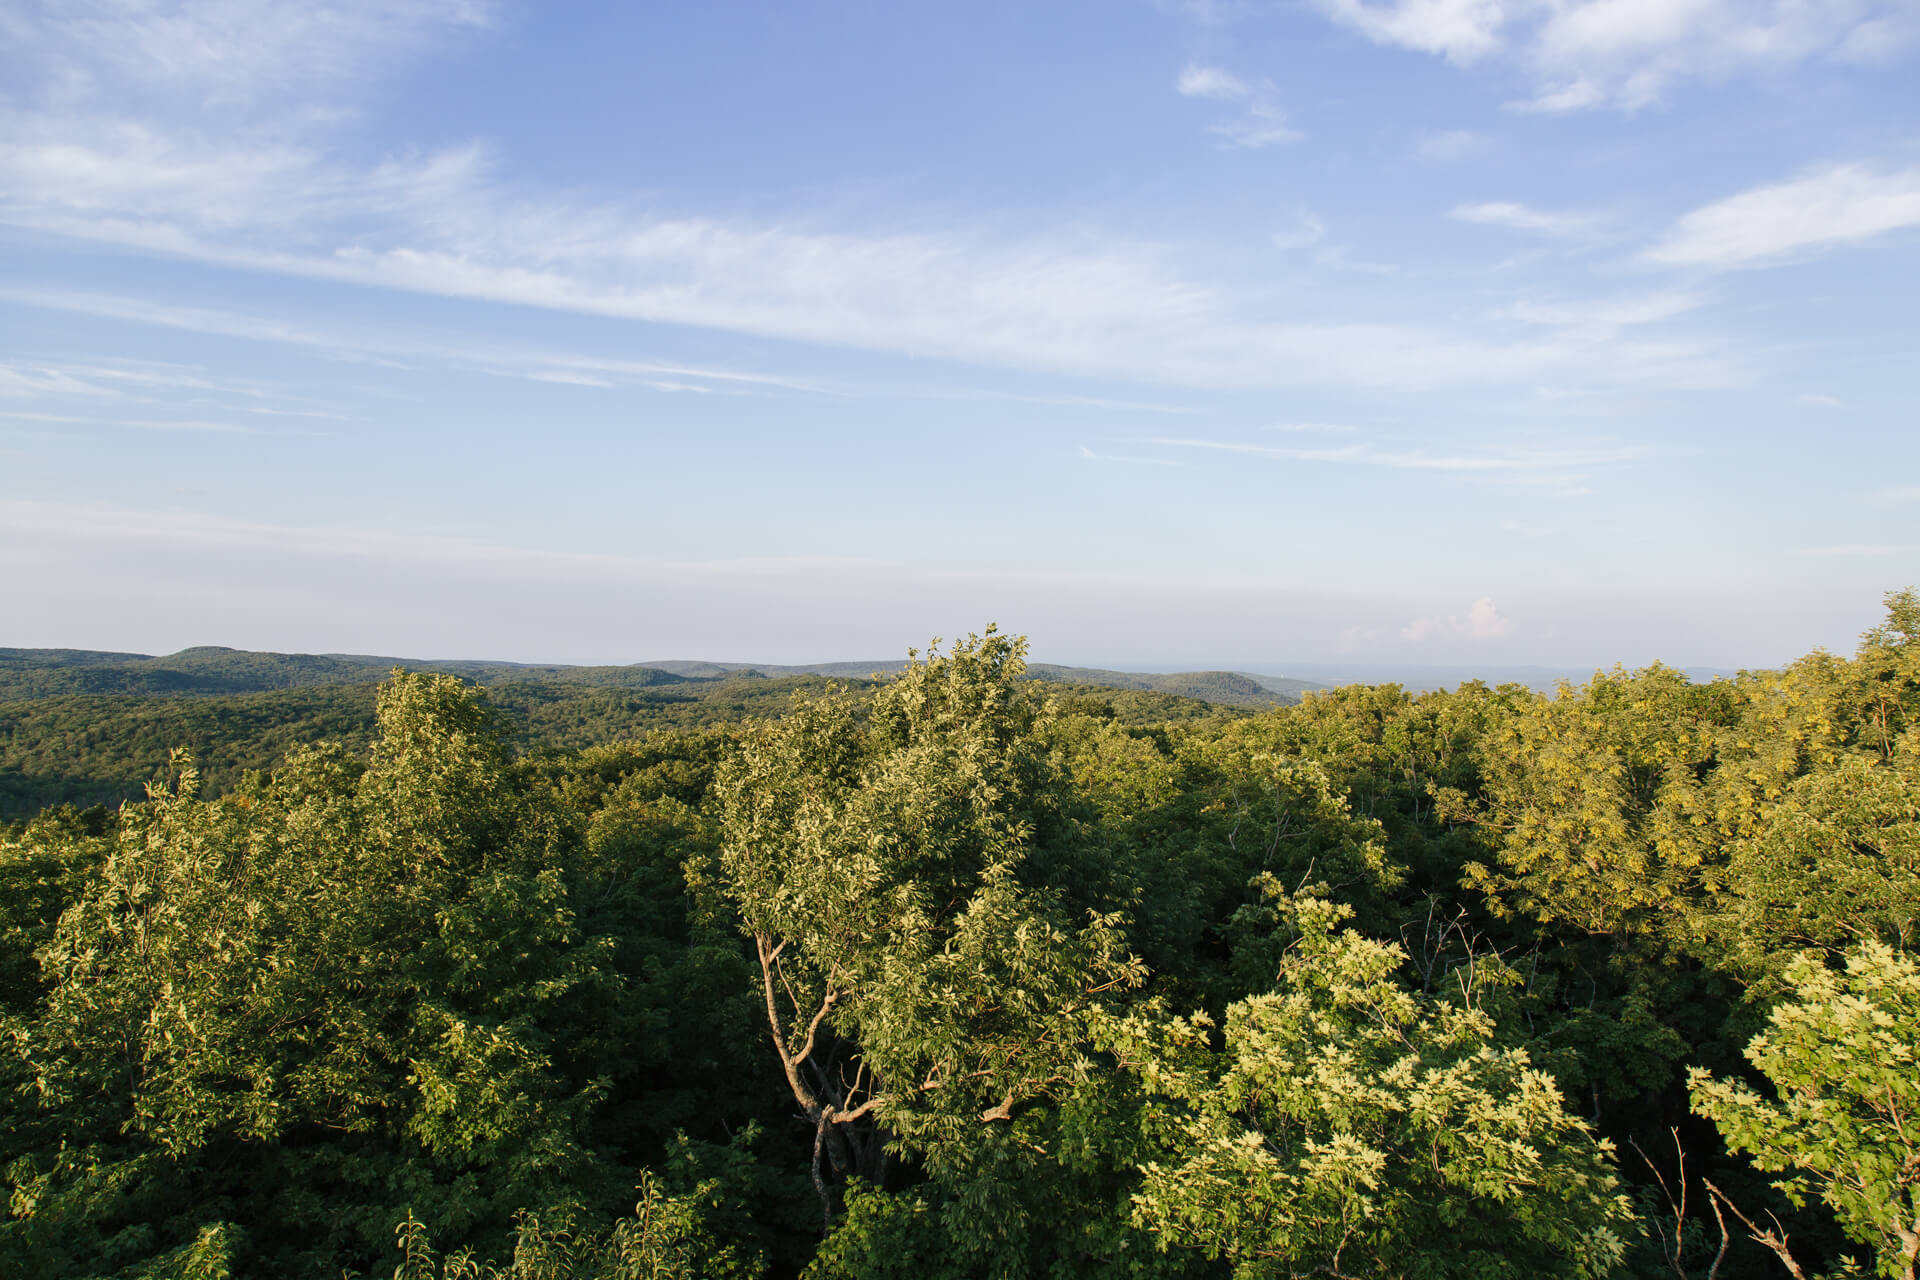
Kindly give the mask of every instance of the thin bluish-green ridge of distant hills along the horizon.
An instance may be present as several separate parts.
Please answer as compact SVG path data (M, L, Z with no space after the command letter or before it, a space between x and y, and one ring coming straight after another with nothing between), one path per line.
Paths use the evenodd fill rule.
M553 681L588 689L653 689L678 683L791 676L864 679L899 672L906 660L780 664L672 658L630 666L570 666L342 652L263 652L219 645L182 649L165 656L92 649L0 649L0 702L67 695L194 697L313 685L361 685L386 677L396 666L411 672L445 672L486 685ZM1298 702L1304 691L1323 687L1288 676L1250 672L1110 672L1054 662L1035 662L1027 670L1033 679L1167 693L1240 708L1284 706Z

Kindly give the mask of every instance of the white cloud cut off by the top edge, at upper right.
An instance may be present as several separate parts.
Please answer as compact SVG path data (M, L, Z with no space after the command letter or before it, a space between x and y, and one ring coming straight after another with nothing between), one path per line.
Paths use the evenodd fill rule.
M1885 61L1920 36L1912 0L1311 0L1377 44L1455 65L1500 59L1534 84L1536 111L1624 109L1676 83L1726 81L1811 59Z

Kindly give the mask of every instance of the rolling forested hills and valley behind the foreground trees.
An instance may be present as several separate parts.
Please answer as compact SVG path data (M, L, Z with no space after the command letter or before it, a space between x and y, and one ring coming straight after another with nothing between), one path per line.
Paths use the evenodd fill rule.
M522 750L624 743L659 729L778 714L795 693L829 683L870 689L904 662L818 668L534 666L415 662L359 654L186 649L169 656L77 649L0 649L0 821L52 804L136 800L175 747L192 752L215 794L271 768L296 743L365 747L374 691L394 668L484 685ZM1227 672L1129 676L1035 668L1071 704L1125 723L1179 722L1294 700Z

